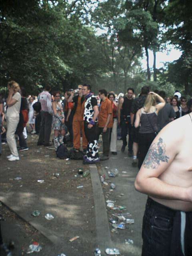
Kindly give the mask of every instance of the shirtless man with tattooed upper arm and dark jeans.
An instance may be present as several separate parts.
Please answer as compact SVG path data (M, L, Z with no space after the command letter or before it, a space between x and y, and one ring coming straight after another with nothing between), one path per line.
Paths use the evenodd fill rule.
M142 256L192 255L192 113L165 126L135 181L147 194Z

